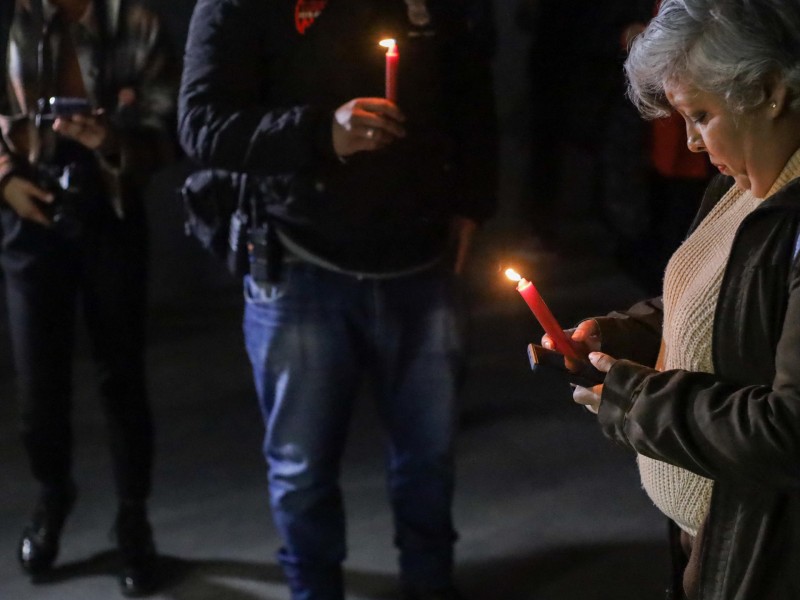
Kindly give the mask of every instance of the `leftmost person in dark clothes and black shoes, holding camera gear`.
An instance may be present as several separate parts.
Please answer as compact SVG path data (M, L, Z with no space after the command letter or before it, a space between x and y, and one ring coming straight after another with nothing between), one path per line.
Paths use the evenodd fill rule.
M146 502L143 190L169 160L177 73L157 17L125 0L16 0L0 20L2 265L21 435L41 492L18 546L50 573L77 496L72 357L82 309L110 430L121 591L156 584Z

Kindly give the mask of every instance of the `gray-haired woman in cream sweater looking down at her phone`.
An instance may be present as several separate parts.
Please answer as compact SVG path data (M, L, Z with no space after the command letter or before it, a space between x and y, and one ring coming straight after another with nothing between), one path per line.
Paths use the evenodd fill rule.
M640 112L679 113L720 175L662 298L572 331L607 372L573 397L638 454L689 598L797 599L800 0L664 0L625 69Z

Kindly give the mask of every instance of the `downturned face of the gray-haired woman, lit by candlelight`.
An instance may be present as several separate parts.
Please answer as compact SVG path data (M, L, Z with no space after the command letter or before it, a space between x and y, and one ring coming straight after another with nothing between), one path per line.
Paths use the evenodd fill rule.
M689 150L706 152L720 173L734 178L742 189L758 198L767 195L774 179L772 170L765 172L759 148L769 143L764 132L762 112L734 114L718 96L697 88L673 83L665 87L669 103L686 122Z

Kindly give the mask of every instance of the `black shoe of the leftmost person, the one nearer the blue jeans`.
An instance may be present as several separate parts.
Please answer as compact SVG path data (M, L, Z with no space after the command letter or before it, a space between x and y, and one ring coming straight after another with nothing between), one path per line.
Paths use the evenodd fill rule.
M158 557L144 507L120 508L114 533L122 561L120 591L129 598L149 596L158 588Z

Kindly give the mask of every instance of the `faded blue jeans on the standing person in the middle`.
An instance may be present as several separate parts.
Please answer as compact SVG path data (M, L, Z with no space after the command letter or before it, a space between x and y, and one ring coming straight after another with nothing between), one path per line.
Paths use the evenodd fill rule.
M338 483L365 377L388 433L389 498L405 584L452 583L453 439L464 343L453 277L440 269L357 279L289 264L245 278L244 333L265 424L279 560L293 600L341 600Z

